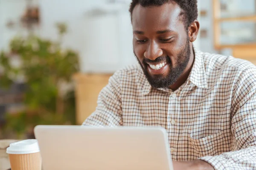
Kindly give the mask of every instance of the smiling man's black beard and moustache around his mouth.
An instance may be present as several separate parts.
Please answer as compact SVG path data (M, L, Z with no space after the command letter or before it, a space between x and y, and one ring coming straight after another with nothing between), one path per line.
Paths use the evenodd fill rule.
M163 61L166 61L166 64L171 67L169 74L166 77L164 77L163 75L151 76L147 71L148 64L146 62L147 61L153 62L153 61L149 59L143 59L143 63L141 63L134 52L134 55L136 56L138 62L140 63L141 68L143 69L145 77L148 79L149 84L154 88L169 88L170 86L172 86L180 77L180 75L183 73L183 71L186 69L186 66L189 63L190 54L191 52L190 52L190 46L189 46L189 39L187 39L185 48L177 56L179 60L175 67L172 67L172 62L169 56L157 57L154 60L154 62L160 62L163 60Z

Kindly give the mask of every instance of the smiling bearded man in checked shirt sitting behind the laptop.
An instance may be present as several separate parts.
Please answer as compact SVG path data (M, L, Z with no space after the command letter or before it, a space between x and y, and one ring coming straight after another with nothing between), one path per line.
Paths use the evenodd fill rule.
M256 67L193 47L196 0L132 0L139 66L117 71L90 126L162 126L174 168L256 169Z

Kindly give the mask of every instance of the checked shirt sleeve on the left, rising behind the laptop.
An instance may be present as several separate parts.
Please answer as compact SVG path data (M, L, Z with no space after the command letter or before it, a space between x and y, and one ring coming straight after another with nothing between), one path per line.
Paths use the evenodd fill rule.
M108 85L99 93L96 111L82 125L97 127L123 125L119 72L110 77Z

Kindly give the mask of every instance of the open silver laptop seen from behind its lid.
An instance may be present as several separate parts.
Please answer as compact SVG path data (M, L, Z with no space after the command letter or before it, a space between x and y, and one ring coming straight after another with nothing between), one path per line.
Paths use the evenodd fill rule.
M44 170L173 170L161 127L38 125Z

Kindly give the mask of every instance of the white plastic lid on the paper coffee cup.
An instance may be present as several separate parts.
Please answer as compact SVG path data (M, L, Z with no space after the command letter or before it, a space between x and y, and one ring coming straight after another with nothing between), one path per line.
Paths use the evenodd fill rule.
M27 139L10 144L6 149L9 154L28 154L40 152L38 141L36 139Z

